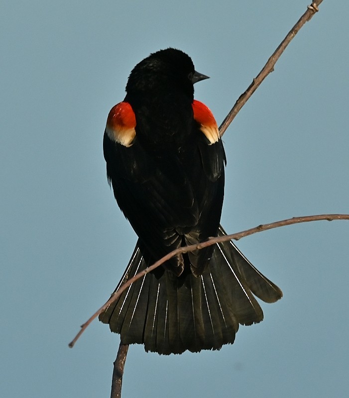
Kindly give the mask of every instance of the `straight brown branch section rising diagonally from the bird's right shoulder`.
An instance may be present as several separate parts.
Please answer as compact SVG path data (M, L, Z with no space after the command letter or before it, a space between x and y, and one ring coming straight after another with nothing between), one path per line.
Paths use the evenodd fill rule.
M259 72L258 76L253 79L252 83L249 85L248 89L241 94L238 100L235 102L233 108L228 113L227 117L223 120L223 123L220 126L220 134L221 137L227 130L228 126L233 121L234 117L237 115L242 106L247 102L247 100L251 97L251 95L257 90L263 80L274 70L274 65L276 61L280 58L281 54L284 52L290 41L294 38L294 36L298 33L300 28L308 22L313 15L319 10L318 6L322 3L323 0L313 1L311 5L308 5L305 13L300 17L298 22L293 26L293 28L288 32L287 36L281 42L279 47L274 51L273 55L268 59L268 62L264 65L263 69ZM287 6L286 6L287 8Z

